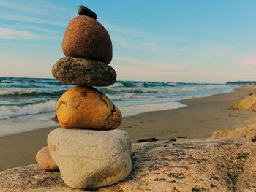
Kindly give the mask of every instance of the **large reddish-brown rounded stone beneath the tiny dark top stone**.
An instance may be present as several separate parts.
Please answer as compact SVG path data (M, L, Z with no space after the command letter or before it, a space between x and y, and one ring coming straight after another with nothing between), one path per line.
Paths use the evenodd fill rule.
M62 42L66 57L88 58L109 64L112 43L108 31L93 18L80 15L67 26Z

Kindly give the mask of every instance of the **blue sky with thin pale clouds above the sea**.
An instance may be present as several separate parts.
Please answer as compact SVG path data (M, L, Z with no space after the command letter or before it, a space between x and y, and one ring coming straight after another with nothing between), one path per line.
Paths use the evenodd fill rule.
M256 80L255 0L0 0L0 77L53 78L80 4L108 30L118 80Z

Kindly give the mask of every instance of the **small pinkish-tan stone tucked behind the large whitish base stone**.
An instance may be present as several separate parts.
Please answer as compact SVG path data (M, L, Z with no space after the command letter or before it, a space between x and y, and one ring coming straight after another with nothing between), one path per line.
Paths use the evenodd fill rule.
M48 146L43 147L41 150L37 152L36 161L42 170L45 170L45 171L59 170L59 167L53 161L53 158L51 158Z

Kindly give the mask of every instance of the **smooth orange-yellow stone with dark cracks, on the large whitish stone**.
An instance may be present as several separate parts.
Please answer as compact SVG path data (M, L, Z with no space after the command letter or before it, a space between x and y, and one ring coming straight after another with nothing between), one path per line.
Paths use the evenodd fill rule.
M104 93L92 87L66 91L57 103L61 128L108 130L121 124L121 112Z

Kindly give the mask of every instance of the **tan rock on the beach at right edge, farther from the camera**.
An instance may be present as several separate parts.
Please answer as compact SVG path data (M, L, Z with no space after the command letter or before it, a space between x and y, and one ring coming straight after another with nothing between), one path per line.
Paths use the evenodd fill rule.
M246 98L237 101L231 108L233 110L256 110L256 95L246 96Z

